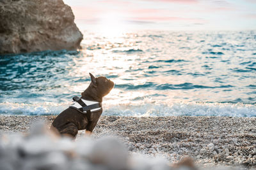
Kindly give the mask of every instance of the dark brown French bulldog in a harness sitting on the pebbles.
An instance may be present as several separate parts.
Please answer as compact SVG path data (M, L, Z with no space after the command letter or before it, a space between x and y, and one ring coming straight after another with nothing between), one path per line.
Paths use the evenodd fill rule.
M51 124L50 129L58 132L61 136L70 136L74 139L77 132L84 129L91 133L102 114L102 97L109 94L114 87L114 82L104 76L95 78L93 74L89 74L91 83L81 93L81 98L73 97L73 99L75 98L75 103L62 111ZM82 104L81 101L83 102ZM81 108L85 108L86 111L77 108L77 106L83 104L84 106ZM98 108L93 108L93 106L98 106Z

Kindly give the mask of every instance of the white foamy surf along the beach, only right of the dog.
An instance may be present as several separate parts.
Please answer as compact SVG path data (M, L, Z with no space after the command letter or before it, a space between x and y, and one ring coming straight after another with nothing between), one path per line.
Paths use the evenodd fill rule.
M122 116L224 116L255 117L255 104L232 103L165 103L108 106L104 115Z

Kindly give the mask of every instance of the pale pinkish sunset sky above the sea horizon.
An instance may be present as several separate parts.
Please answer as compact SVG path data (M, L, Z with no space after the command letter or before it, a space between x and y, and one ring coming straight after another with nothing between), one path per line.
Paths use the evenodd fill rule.
M256 0L64 0L79 29L255 30ZM117 29L118 28L118 29Z

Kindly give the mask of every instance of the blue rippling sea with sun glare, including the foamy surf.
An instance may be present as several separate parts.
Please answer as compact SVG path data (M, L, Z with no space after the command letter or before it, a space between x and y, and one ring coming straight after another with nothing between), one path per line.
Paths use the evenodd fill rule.
M0 114L58 115L90 75L102 115L256 117L256 31L83 31L81 50L1 55Z

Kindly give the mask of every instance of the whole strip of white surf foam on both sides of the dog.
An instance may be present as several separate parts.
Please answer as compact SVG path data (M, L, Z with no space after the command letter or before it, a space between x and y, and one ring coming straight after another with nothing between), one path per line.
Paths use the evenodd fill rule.
M12 115L58 115L70 103L1 103L0 114ZM223 116L256 117L256 104L242 103L123 103L103 104L102 115L116 116Z

